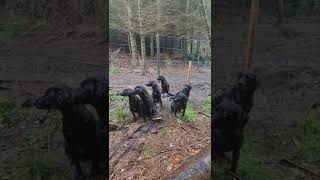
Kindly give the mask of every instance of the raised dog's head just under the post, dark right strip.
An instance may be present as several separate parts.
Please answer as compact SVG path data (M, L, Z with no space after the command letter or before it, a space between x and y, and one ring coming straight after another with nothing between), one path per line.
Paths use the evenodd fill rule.
M259 86L259 80L253 73L240 73L237 86L241 91L254 92Z

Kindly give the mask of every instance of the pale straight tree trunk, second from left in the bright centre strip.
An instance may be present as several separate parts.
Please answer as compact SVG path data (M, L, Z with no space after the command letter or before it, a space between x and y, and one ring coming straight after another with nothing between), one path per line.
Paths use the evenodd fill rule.
M141 0L138 0L138 9L139 9L139 25L140 25L140 37L141 37L141 58L142 58L142 64L143 64L143 75L146 74L147 71L147 62L146 62L146 43L145 43L145 36L143 32L143 24L142 24L142 4Z

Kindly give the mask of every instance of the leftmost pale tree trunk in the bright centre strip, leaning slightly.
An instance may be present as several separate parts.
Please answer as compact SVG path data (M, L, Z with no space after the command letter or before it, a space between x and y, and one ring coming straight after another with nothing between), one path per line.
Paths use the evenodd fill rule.
M130 36L132 60L136 61L136 65L139 66L139 60L137 58L137 41L136 41L136 37L134 36L133 27L132 27L132 10L130 6L130 0L127 0L127 12L128 12L129 36Z

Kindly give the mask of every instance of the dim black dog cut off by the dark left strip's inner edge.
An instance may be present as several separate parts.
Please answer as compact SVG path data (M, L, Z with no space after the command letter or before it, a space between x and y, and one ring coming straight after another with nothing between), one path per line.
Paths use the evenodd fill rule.
M100 119L103 121L103 128L107 127L107 79L105 77L89 77L80 83L75 100L82 104L94 106Z

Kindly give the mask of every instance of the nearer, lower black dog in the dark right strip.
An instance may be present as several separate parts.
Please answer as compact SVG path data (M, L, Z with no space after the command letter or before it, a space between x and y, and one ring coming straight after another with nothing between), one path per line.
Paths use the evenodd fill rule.
M215 155L232 151L230 171L236 172L243 143L244 127L248 121L247 113L234 101L223 99L213 112Z

